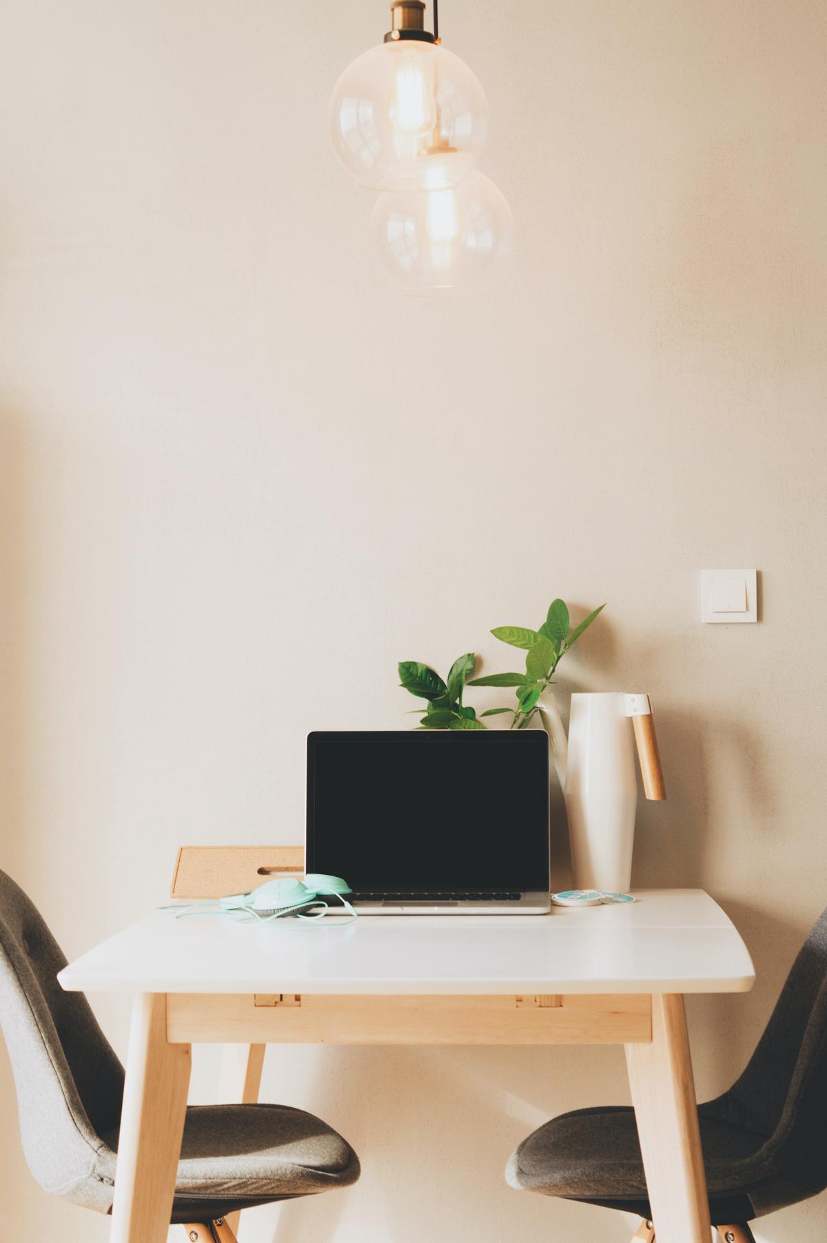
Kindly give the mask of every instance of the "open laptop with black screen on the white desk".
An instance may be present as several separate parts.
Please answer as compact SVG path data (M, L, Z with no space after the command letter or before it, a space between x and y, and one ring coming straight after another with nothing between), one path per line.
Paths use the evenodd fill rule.
M545 731L308 735L305 868L360 915L546 914Z

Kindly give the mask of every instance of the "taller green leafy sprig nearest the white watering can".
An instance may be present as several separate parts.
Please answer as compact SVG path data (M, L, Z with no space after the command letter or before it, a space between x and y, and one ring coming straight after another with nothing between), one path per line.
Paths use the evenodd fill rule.
M517 694L517 707L492 707L482 716L510 712L510 728L525 730L538 711L540 695L551 685L556 667L566 651L571 651L577 639L605 608L606 605L601 604L572 630L566 604L563 600L553 600L546 619L538 630L519 625L500 625L492 630L495 639L525 651L525 672L490 674L488 677L474 677L469 681L469 686L513 686Z

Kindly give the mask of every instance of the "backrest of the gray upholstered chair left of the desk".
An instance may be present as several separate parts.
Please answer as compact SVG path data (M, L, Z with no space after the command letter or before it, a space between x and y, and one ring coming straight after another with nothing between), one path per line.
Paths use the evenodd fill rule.
M0 871L0 1027L24 1152L41 1187L72 1199L88 1183L99 1136L119 1124L123 1068L86 997L57 983L65 966L37 909ZM88 1192L81 1198L88 1203Z

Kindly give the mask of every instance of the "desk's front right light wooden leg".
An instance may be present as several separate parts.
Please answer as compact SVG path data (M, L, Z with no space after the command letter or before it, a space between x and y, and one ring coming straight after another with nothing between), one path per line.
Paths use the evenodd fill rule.
M709 1202L683 997L652 997L652 1043L627 1044L657 1243L709 1243Z

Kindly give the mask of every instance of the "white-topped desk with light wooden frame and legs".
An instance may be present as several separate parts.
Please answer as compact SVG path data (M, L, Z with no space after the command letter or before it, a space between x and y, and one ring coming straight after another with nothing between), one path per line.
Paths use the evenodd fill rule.
M625 1044L658 1243L708 1243L683 994L745 992L752 963L703 891L638 897L344 925L159 911L91 950L63 988L135 994L112 1243L166 1238L195 1042Z

